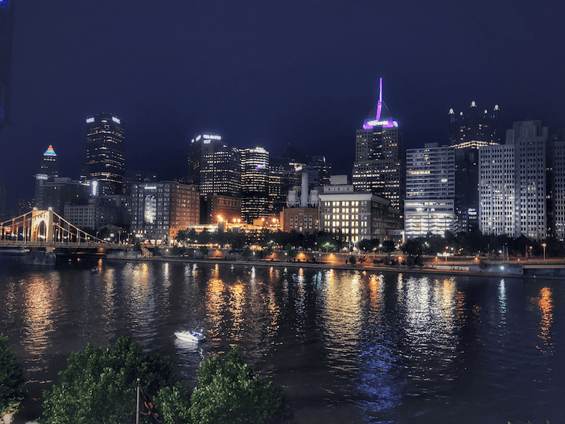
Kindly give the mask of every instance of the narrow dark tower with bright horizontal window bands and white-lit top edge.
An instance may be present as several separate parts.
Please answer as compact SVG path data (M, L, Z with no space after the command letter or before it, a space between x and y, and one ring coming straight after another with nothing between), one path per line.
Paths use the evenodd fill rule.
M242 155L242 220L268 218L269 206L269 153L262 147L244 148Z

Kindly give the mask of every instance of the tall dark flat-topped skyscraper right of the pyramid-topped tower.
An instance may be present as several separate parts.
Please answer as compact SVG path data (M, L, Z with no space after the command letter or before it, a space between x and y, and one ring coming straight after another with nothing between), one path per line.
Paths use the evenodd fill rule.
M125 129L118 117L100 113L86 119L86 167L95 194L121 194ZM93 189L94 192L94 189Z

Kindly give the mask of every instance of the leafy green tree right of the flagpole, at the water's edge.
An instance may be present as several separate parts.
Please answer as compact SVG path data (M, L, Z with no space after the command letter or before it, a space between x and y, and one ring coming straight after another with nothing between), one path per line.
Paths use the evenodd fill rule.
M201 363L198 385L191 396L193 423L289 423L290 408L282 390L265 381L244 363L239 348L225 363L214 356Z

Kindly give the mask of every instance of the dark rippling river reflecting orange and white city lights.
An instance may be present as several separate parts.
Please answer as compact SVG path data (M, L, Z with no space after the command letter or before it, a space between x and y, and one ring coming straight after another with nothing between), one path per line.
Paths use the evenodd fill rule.
M16 422L73 351L133 336L198 364L240 346L297 423L561 423L564 281L189 262L0 259L0 332L28 372ZM194 346L173 336L201 326Z

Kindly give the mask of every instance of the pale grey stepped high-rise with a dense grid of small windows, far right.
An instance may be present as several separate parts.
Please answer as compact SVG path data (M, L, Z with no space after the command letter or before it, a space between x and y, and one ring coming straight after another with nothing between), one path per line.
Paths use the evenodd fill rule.
M547 126L515 122L506 144L479 149L480 230L484 234L547 237Z

